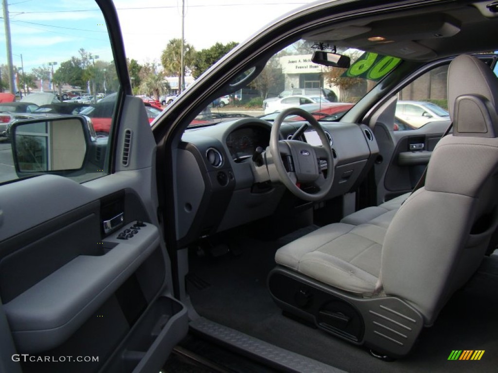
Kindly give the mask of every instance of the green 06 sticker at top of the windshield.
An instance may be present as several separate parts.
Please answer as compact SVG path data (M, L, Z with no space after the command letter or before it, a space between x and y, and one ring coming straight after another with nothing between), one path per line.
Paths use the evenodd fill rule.
M342 76L378 81L390 73L400 62L401 59L398 57L365 52Z

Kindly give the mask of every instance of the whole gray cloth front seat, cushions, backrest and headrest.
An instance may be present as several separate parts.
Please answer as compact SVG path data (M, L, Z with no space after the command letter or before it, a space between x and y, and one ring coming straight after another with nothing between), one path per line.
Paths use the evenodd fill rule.
M434 149L424 187L400 207L404 196L285 245L276 263L360 296L403 299L430 325L476 271L498 226L497 78L459 56L448 93L453 134Z

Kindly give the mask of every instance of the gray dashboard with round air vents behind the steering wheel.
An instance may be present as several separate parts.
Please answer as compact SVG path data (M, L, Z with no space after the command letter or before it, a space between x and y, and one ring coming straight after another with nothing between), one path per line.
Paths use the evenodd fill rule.
M282 123L280 138L288 139L303 123ZM272 125L251 117L185 130L175 163L179 173L175 178L178 183L175 210L180 221L177 234L181 245L270 216L282 208L280 201L286 187L278 181L260 178L261 167L264 170L267 166L257 166L252 161L258 147L267 150ZM333 185L324 198L331 199L354 190L364 180L378 155L378 147L372 131L365 125L338 122L321 125L334 157ZM312 128L299 140L321 145ZM263 152L261 156L266 154ZM268 171L270 167L274 166L270 164Z

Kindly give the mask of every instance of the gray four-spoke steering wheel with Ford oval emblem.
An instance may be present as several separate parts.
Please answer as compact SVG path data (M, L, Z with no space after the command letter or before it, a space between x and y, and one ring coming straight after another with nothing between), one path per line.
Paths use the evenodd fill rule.
M299 115L316 130L323 146L313 146L298 140L279 140L280 125L289 115ZM309 112L298 107L282 110L273 121L270 134L270 153L280 181L296 196L307 201L317 201L325 197L334 180L334 161L330 143L325 131ZM282 161L287 160L287 169ZM322 173L319 161L327 161L327 174ZM312 184L316 193L308 193L299 184Z

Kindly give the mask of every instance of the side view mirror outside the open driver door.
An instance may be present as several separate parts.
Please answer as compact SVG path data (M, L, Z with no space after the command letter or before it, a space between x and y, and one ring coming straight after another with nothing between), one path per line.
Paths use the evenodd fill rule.
M82 171L89 153L89 123L83 116L20 120L9 128L14 167L19 177Z

